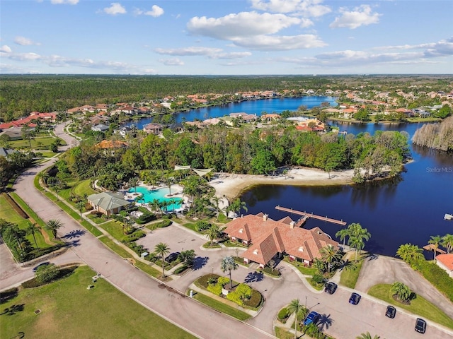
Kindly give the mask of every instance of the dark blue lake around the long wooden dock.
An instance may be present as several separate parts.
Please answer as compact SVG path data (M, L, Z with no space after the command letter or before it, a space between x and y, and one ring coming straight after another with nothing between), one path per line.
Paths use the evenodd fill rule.
M374 133L382 129L407 131L411 137L421 125L337 124L348 133ZM280 205L345 220L348 224L359 222L372 234L365 249L394 256L400 244L424 246L431 235L453 233L453 222L443 219L445 213L453 213L453 156L416 146L411 152L414 161L405 166L400 180L367 186L257 186L246 191L241 199L246 201L248 213L268 213L275 220L286 216L275 210ZM307 228L314 226L332 237L340 230L338 225L314 219L306 223ZM427 256L432 258L432 252Z

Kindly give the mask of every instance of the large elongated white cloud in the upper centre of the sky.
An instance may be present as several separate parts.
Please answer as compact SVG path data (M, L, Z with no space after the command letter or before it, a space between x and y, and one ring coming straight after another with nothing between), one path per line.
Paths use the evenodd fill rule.
M256 13L253 11L231 13L222 18L195 16L188 22L187 28L194 35L233 40L238 37L273 34L299 23L301 23L301 19L284 14Z

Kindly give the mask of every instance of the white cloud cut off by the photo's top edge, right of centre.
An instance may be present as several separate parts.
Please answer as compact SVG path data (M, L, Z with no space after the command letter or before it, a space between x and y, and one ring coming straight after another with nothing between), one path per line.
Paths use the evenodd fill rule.
M321 5L323 0L251 0L252 8L274 13L294 13L303 17L319 17L330 13L331 8Z

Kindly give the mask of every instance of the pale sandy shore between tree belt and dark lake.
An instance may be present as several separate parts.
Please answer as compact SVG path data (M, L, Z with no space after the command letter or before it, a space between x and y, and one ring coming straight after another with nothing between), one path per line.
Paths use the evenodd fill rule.
M331 177L321 169L295 167L285 175L252 175L252 174L224 174L220 173L212 179L210 185L216 190L219 197L234 198L241 191L258 184L293 185L293 186L328 186L352 184L354 169L340 172L331 172Z

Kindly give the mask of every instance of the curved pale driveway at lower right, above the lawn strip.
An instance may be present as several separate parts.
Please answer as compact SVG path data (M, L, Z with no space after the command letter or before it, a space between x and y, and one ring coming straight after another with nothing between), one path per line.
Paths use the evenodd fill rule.
M432 304L442 309L453 319L453 303L437 291L432 285L415 272L407 263L389 256L376 256L366 260L360 270L355 289L368 292L369 288L377 284L393 284L396 281L407 285L411 291L421 295Z

